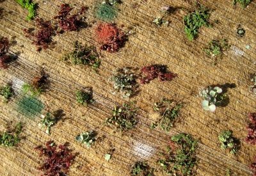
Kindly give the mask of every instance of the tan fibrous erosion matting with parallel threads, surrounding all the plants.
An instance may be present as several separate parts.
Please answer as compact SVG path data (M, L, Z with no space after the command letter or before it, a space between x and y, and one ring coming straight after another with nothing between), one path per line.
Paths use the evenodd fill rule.
M33 49L35 47L24 38L24 33L22 33L24 28L29 31L35 28L36 33L32 34L31 39L36 40L35 35L38 35L37 31L40 31L40 28L36 28L36 22L24 20L28 12L21 10L15 1L1 1L0 6L4 7L4 13L0 19L1 36L15 41L6 54L14 53L19 55L19 58L10 65L8 64L8 69L0 69L1 86L12 83L15 92L12 100L0 106L0 124L7 124L6 122L11 121L22 122L25 124L24 136L27 137L20 140L17 148L0 147L2 161L0 167L4 168L0 170L0 175L40 175L44 173L47 175L45 168L42 168L43 172L36 170L39 164L43 166L41 164L44 161L43 159L42 163L39 161L33 147L44 146L49 140L65 146L63 150L70 148L72 154L76 156L71 165L71 161L63 161L62 164L55 164L52 168L54 172L60 172L59 167L70 165L69 168L66 167L66 170L62 170L64 173L68 170L67 175L132 175L132 165L136 162L140 163L135 164L133 169L134 174L138 175L147 171L149 171L147 175L156 176L166 175L166 172L175 172L173 173L175 175L253 175L255 166L252 163L255 161L253 161L252 154L256 152L256 149L251 144L254 129L251 124L252 120L247 120L247 114L255 112L256 107L255 81L254 77L251 77L252 73L255 73L256 62L255 42L253 42L256 33L254 1L250 2L249 6L246 4L245 8L240 6L239 1L236 2L236 6L232 6L231 1L222 0L214 2L200 0L197 5L189 0L33 2L38 4L36 17L44 19L42 22L51 23L54 31L60 26L58 20L61 19L54 19L54 17L60 12L61 4L68 4L72 9L65 19L80 12L81 8L86 6L88 9L84 9L85 13L81 14L81 20L86 24L86 28L79 28L78 31L65 31L61 35L58 31L56 31L57 35L54 35L52 31L49 43L43 44L43 42L42 45L38 45L38 49L43 47L48 49L44 52L36 52ZM105 39L108 40L108 44L106 45L96 40L98 25L105 24L99 17L95 17L96 10L102 4L107 5L105 7L108 10L115 9L116 12L113 19L104 20L108 22L106 28L111 28L101 35L107 36ZM208 12L206 14L204 10L194 14L202 7L201 5L210 10L211 16L207 15ZM167 10L169 13L164 13ZM199 22L202 22L201 19L204 20L206 17L206 21L209 22L207 24L213 27L194 26L196 35L193 36L192 41L187 39L184 31L184 25L188 21L183 20L183 17L188 17L190 13L195 15L196 22L199 19ZM152 21L159 15L158 24L152 24ZM161 19L162 15L164 15L162 18L164 21ZM164 27L166 21L168 21L167 28ZM65 24L69 25L69 23ZM40 33L42 40L49 36L47 28L46 26ZM113 37L109 38L109 36ZM120 36L124 37L119 38ZM209 49L210 54L221 51L219 49L220 38L227 38L230 49L222 54L220 64L212 67L209 56L202 51L202 48ZM56 43L54 47L50 47L52 41ZM74 41L95 46L101 60L100 67L97 67L97 74L90 69L83 69L81 65L69 67L58 61L66 51L72 50L70 44ZM219 41L219 45L213 45L212 49L212 43L209 44L209 41ZM164 65L167 72L159 72L157 69L153 69L154 72L140 71L141 68L150 65ZM21 91L22 84L24 84L22 81L26 82L36 77L35 72L39 68L44 68L49 74L47 81L51 84L47 84L47 92L37 98L24 97ZM136 90L132 89L127 99L124 99L123 95L118 95L120 93L113 95L115 83L110 84L108 79L113 76L115 68L131 68L134 83L140 83L140 79L147 79L144 80L147 84L146 82L136 84ZM164 79L166 77L164 74L168 73L170 73L170 79ZM118 83L125 83L125 81L121 79ZM230 88L228 84L235 86ZM198 91L204 86L209 88L209 85L218 85L222 90L221 93L227 93L223 101L218 99L221 94L218 88L216 91L209 91L210 97L207 93L202 97L198 95ZM124 88L122 84L120 86ZM212 86L212 89L214 87L216 86ZM92 93L93 103L88 107L77 104L78 101L82 104L90 103L87 95L77 99L77 90ZM125 92L125 95L127 93L129 92ZM153 110L154 102L162 97L180 101L172 104L170 108L159 106L157 113ZM209 113L202 108L204 100L208 101L204 106L206 109L213 111L212 104L217 107L219 101L221 101L221 108L218 107L214 112ZM131 101L134 102L136 108L129 109ZM179 107L178 110L172 111L176 106L180 106L181 102L182 108ZM122 107L124 103L127 104L126 107ZM40 118L40 115L47 116L47 107L45 112L44 104L49 104L52 109L63 109L64 118L54 124L52 124L52 113L48 120ZM122 109L122 113L119 109ZM166 116L168 115L166 119L171 122L169 126L167 124L168 128L163 125L168 131L162 130L161 124L157 123L159 117L164 114L160 112L161 109L166 111ZM116 114L115 118L113 113ZM124 116L131 118L123 118ZM103 125L102 121L106 118L112 118L112 120L109 124ZM172 121L173 118L174 121ZM44 122L41 122L43 120ZM38 127L38 122L44 123L45 129ZM53 126L51 136L45 134L48 124ZM152 124L152 129L150 129L150 124ZM154 126L157 127L154 128ZM250 127L246 129L247 126ZM122 133L113 132L115 127ZM132 130L127 130L126 127ZM3 125L0 125L0 128L0 131L4 132ZM90 129L93 131L91 134ZM230 129L241 142L236 146L236 155L230 155L227 151L221 150L218 136L227 129ZM184 142L182 146L179 142L186 141L185 137L177 137L178 141L173 138L172 143L169 144L171 136L184 134L182 132L191 134L190 142ZM77 134L79 134L78 137ZM247 134L250 135L250 139L244 141ZM184 146L190 146L194 140L197 140L196 149L190 148L189 151L193 154L186 153L188 150ZM167 143L168 148L164 148ZM227 143L228 145L234 144ZM59 151L57 145L51 146L49 143L48 147L51 152L54 147L56 151ZM168 152L173 153L169 155ZM159 156L159 153L163 156ZM186 161L182 159L188 157L193 159L189 160L190 163L184 164ZM170 159L172 162L158 163L157 159L166 161ZM193 163L192 161L195 160L196 162ZM184 162L179 163L180 161ZM144 170L145 165L149 170ZM165 165L166 170L164 170ZM150 168L154 170L151 171ZM145 172L141 172L142 170Z

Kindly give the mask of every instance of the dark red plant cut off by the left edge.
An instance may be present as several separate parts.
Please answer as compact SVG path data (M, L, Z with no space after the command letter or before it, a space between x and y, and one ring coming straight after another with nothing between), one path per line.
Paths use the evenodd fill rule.
M9 42L7 37L0 38L0 68L4 69L7 68L6 62L10 58L6 55L9 49L8 44Z

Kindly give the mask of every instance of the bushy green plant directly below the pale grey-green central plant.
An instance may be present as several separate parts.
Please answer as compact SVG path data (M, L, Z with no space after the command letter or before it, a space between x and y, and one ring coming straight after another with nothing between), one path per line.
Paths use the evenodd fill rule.
M133 108L134 102L125 102L123 108L114 108L112 110L113 115L110 118L106 118L104 123L108 125L114 125L116 130L120 132L125 129L132 129L137 124L135 119L137 109Z

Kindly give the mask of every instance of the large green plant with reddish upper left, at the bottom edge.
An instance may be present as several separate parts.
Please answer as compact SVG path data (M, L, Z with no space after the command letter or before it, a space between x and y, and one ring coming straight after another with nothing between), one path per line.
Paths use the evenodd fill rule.
M188 134L177 134L171 138L167 153L160 154L158 160L167 175L192 175L196 164L195 149L197 141Z

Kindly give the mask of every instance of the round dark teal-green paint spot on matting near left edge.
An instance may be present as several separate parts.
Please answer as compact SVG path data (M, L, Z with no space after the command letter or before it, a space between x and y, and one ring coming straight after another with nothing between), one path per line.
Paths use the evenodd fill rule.
M17 103L17 111L28 118L39 116L44 104L35 97L22 97Z

